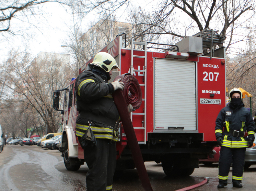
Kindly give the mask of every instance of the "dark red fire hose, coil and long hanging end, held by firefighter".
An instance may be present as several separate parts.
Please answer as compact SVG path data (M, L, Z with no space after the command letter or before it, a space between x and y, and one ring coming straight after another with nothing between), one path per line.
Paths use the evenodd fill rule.
M124 126L127 141L131 150L135 166L137 168L142 187L146 191L153 191L146 167L144 165L136 134L131 122L130 114L127 110L127 106L129 104L132 105L133 109L138 109L140 107L142 102L141 88L138 80L130 73L117 76L114 81L119 78L121 78L121 82L124 82L125 88L123 91L121 91L120 89L116 90L112 94L112 96L118 109L122 124Z

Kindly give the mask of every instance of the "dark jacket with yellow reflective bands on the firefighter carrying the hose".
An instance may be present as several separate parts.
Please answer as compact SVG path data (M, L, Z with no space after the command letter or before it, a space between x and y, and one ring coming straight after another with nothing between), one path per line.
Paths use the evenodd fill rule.
M87 70L79 74L75 92L79 111L75 134L82 137L90 121L96 138L117 141L118 131L113 129L119 120L119 114L111 95L114 92L113 85Z

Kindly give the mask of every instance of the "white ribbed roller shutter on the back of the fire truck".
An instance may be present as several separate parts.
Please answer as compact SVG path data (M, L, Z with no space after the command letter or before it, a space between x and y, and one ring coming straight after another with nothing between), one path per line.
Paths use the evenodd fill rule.
M155 130L175 127L196 130L196 65L155 59Z

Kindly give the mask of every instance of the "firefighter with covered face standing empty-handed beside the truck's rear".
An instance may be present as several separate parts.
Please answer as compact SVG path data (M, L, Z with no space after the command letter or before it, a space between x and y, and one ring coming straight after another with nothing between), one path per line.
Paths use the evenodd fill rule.
M221 109L215 127L217 143L221 146L218 188L227 185L231 163L233 187L242 188L245 150L253 145L254 121L251 113L243 107L242 92L239 89L233 88L229 98L230 104ZM244 137L245 131L248 137Z

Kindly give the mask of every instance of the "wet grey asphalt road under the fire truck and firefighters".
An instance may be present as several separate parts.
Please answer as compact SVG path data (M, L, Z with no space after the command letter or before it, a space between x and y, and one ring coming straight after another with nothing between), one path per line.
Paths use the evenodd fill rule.
M161 164L145 163L154 191L175 191L203 181L205 185L193 191L256 190L256 165L244 171L243 188L233 188L231 178L228 186L217 189L218 163L200 164L194 173L186 178L166 177ZM82 165L77 172L68 171L57 150L37 146L6 145L0 153L0 191L85 191L88 167ZM229 177L232 177L232 167ZM113 191L143 191L136 169L126 170L115 179Z

